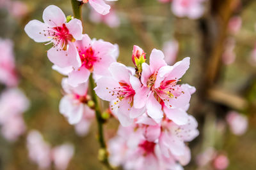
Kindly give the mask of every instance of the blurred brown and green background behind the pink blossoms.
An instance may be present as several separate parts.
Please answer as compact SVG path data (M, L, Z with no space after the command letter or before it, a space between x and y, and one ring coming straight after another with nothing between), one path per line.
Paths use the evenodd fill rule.
M63 76L52 70L47 59L46 51L51 45L35 43L24 32L29 20L42 21L42 12L50 4L72 15L68 0L0 0L0 38L13 43L18 87L30 103L22 115L26 131L14 141L0 135L0 169L38 169L26 147L26 136L32 129L39 131L52 147L66 142L74 145L67 169L103 169L97 160L95 122L88 134L79 136L59 113ZM188 112L198 120L200 136L189 143L192 159L184 169L200 169L196 157L209 148L228 157L227 169L255 169L256 1L205 0L204 13L197 18L179 17L171 8L169 1L116 1L111 4L113 16L100 18L89 5L83 5L83 29L90 38L118 44L118 62L127 66L133 65L133 45L143 48L147 57L153 48L164 50L170 64L191 57L182 83L197 89ZM4 50L1 46L0 49ZM0 90L10 87L1 83ZM248 123L238 135L234 131L242 123L232 123L227 118L230 111L243 115L243 124ZM114 118L108 120L107 140L115 136L117 127ZM211 163L204 168L214 169Z

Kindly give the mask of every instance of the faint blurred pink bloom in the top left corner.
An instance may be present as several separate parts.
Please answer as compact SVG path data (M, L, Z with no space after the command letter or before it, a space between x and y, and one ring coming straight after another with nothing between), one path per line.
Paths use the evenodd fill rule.
M9 12L17 18L22 18L28 13L28 6L22 1L12 1Z

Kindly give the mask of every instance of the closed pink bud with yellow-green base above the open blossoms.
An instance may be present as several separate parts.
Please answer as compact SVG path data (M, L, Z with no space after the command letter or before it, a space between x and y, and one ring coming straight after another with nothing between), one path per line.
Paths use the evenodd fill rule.
M138 69L138 72L141 73L142 71L142 63L146 61L146 53L140 48L140 46L133 46L132 50L132 61Z

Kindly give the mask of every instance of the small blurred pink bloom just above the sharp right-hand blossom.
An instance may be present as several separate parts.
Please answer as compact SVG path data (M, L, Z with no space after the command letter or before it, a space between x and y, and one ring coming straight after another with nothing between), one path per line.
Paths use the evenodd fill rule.
M174 64L179 50L179 43L176 40L166 41L163 44L163 53L165 62L170 65Z

